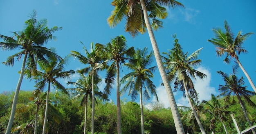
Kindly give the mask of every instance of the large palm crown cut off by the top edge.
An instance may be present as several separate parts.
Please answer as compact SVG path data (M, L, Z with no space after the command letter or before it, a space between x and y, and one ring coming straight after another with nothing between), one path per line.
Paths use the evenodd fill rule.
M126 18L125 31L129 32L132 37L137 36L139 32L141 34L146 32L146 24L139 0L114 0L111 4L115 6L115 9L108 17L110 27L117 26L122 19ZM154 30L162 28L163 23L159 19L167 17L167 10L161 5L184 7L183 4L175 0L145 0L145 4Z

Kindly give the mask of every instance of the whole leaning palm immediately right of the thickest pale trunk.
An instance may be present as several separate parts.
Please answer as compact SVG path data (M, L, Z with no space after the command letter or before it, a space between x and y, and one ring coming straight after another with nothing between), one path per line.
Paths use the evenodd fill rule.
M204 128L200 122L200 119L195 111L193 106L192 98L197 97L196 91L194 89L194 85L192 82L192 78L195 77L203 80L206 75L193 67L200 66L201 60L197 59L202 48L196 50L191 55L188 55L188 52L184 53L182 51L181 45L178 43L178 39L176 35L173 35L174 40L174 48L169 50L169 53L163 52L164 55L168 57L163 57L166 68L168 69L168 76L171 81L175 80L175 89L180 89L185 92L184 97L187 96L189 100L189 105L193 111L195 119L200 127L200 130L203 134L206 134ZM180 87L178 85L181 85ZM190 92L190 93L189 93ZM192 98L191 98L192 97Z

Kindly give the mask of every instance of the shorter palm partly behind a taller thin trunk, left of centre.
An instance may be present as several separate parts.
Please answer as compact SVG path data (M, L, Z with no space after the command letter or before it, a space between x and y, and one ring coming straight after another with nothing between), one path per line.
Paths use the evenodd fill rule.
M79 72L79 71L78 71ZM73 86L76 86L76 88L70 88L68 90L75 91L76 94L74 98L83 97L81 100L81 106L84 105L85 107L85 121L84 121L84 134L86 134L87 130L87 104L88 99L92 101L92 76L85 76L83 73L79 73L80 78L76 82L67 82L67 84L72 84ZM99 87L97 84L101 82L101 79L99 78L99 75L95 76L95 95L101 98L106 97L102 92L99 92ZM89 97L89 98L88 98ZM106 98L104 98L106 99Z

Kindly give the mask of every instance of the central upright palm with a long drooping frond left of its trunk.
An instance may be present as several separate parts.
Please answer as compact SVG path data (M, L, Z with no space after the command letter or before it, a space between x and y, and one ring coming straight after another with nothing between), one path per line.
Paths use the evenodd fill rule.
M127 47L126 39L123 35L111 39L106 45L97 43L96 46L103 50L102 54L111 62L105 79L107 86L104 92L107 95L110 95L110 89L112 89L114 84L114 77L117 75L117 132L121 134L120 67L121 63L125 63L134 54L135 50L134 47Z

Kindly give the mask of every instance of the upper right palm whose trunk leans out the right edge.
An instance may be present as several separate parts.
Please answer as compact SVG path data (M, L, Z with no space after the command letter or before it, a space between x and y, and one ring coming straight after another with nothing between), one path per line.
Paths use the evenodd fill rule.
M208 39L208 41L216 46L217 56L222 56L225 53L227 53L225 59L223 60L225 63L229 64L231 58L236 59L236 62L238 63L242 71L245 73L246 78L248 79L249 83L252 86L252 89L256 93L256 87L252 82L252 79L250 78L247 71L245 71L245 68L243 67L242 63L239 61L238 58L238 55L240 55L240 53L247 53L247 50L243 48L243 43L250 35L254 33L248 32L243 35L243 32L239 31L236 37L234 37L234 34L231 31L231 28L226 20L224 21L224 27L226 31L222 31L221 28L213 28L215 38L211 38L211 40Z

